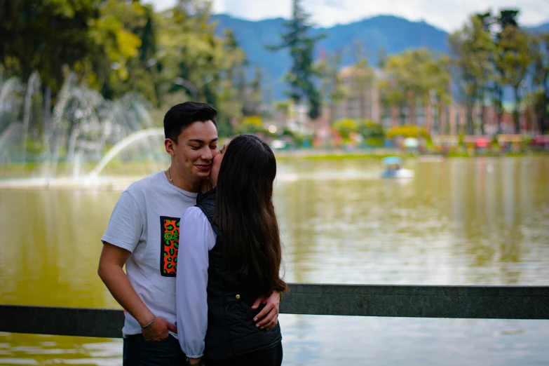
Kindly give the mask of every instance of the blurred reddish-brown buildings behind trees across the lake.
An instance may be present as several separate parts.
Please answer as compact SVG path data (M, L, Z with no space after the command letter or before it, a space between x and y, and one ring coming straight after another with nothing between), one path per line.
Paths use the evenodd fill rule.
M381 69L358 69L354 66L343 67L340 70L346 96L337 105L330 107L325 105L320 118L310 121L307 116L306 105L292 105L287 109L285 116L279 116L277 127L285 126L303 134L320 133L326 135L330 130L330 124L341 119L353 119L354 121L370 120L381 123L385 130L395 126L414 124L423 127L430 135L460 135L466 133L467 109L464 104L455 100L450 104L440 104L431 95L431 103L424 105L421 98L416 99L416 105L411 111L408 102L400 107L383 107L381 96L377 87L378 82L384 79ZM451 82L450 82L451 83ZM410 92L411 93L411 92ZM414 95L407 95L409 100ZM501 132L514 133L512 105L504 105L506 111L501 116ZM333 115L333 116L332 116ZM480 106L473 109L474 134L480 135ZM484 133L494 135L498 131L496 109L493 106L484 107ZM533 112L530 110L520 112L520 126L522 133L535 135Z

